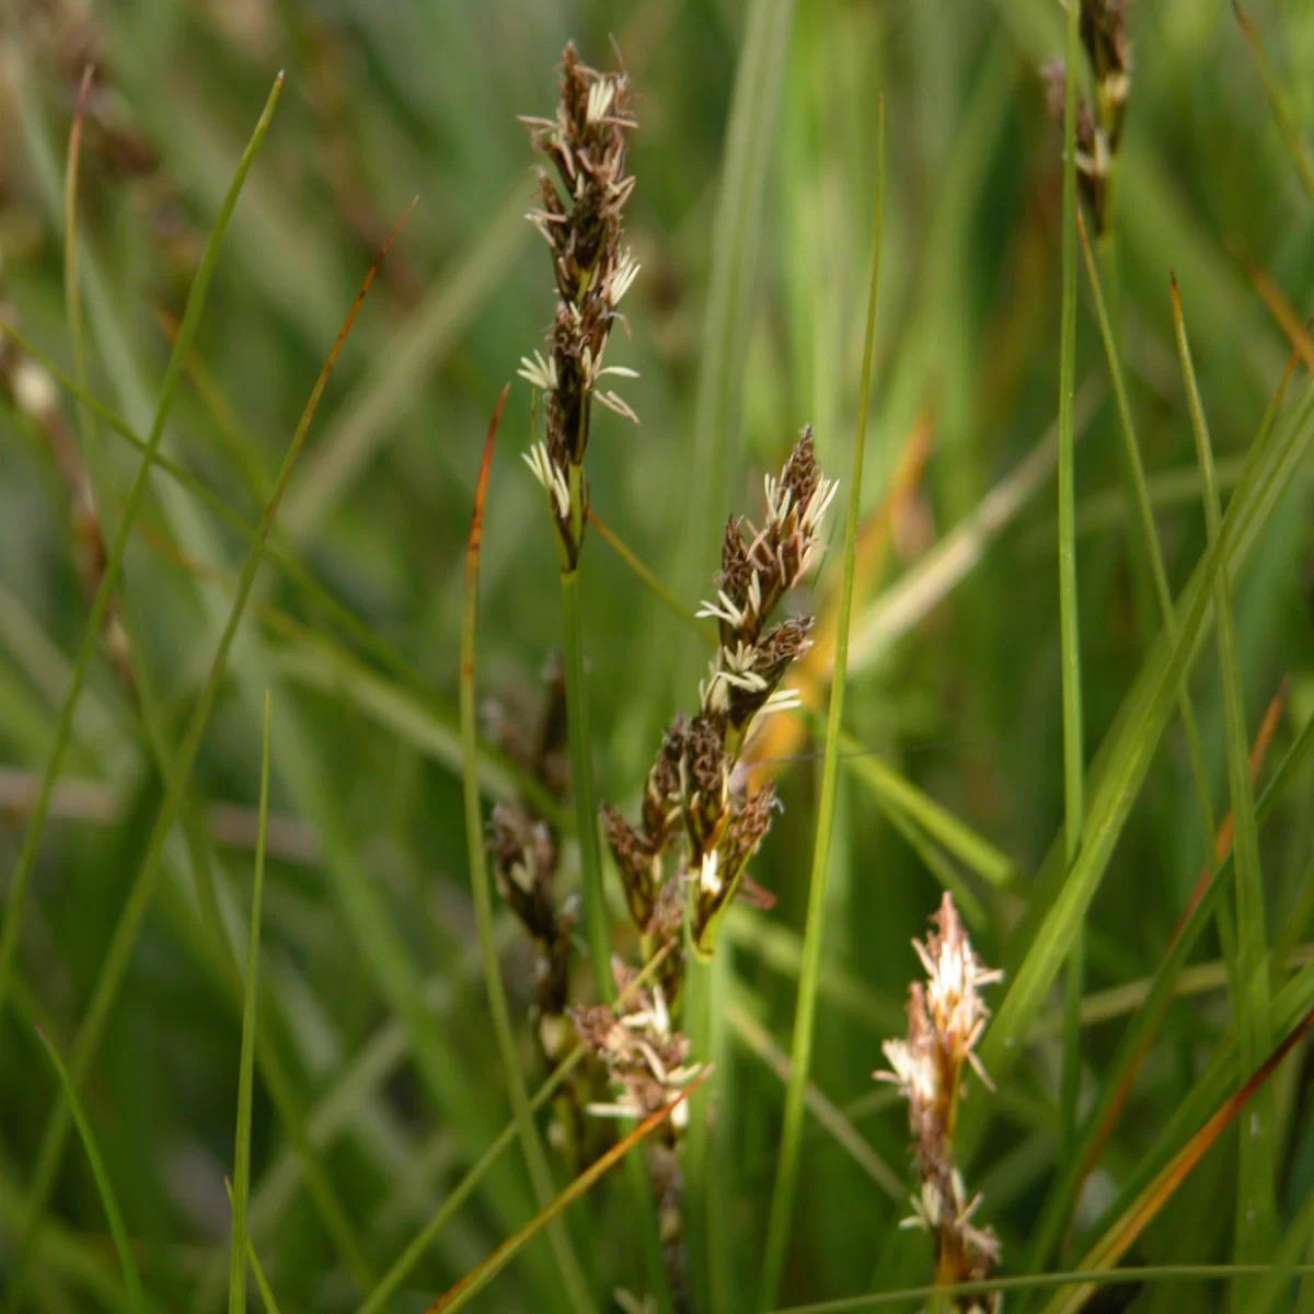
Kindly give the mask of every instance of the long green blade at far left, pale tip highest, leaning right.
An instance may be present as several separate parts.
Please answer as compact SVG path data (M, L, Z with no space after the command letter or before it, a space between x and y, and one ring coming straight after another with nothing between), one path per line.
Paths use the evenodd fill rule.
M192 342L196 338L196 330L201 322L210 277L214 272L214 265L218 261L219 247L223 243L223 234L227 231L229 221L233 217L233 210L237 206L238 196L242 192L242 184L246 181L251 163L255 159L256 152L260 150L265 133L269 130L269 124L273 118L273 109L279 102L279 95L281 91L283 75L280 74L275 79L273 89L269 92L269 99L265 101L264 110L255 126L255 131L251 134L251 141L247 143L246 151L238 162L237 172L233 175L229 192L223 198L223 204L219 206L214 227L210 230L210 237L205 246L205 254L201 256L196 277L192 280L192 290L188 293L187 309L183 313L183 326L179 330L177 342L173 346L168 365L164 371L164 381L160 385L159 401L155 407L155 418L151 424L151 431L146 439L146 455L143 456L142 463L137 469L137 474L134 476L127 490L127 495L124 499L124 509L120 515L118 528L114 533L114 541L106 553L105 572L96 589L96 597L92 602L91 614L87 618L81 644L78 650L78 661L74 665L72 686L70 687L68 696L64 699L64 704L59 711L59 721L55 727L55 740L51 745L50 756L46 759L46 767L41 781L41 791L37 795L37 805L33 809L30 820L28 821L28 829L22 840L22 849L18 854L18 861L14 865L13 876L9 882L9 892L5 900L4 911L4 926L3 930L0 930L0 1008L4 1005L4 996L9 984L9 971L13 963L14 950L18 943L18 933L22 926L22 909L28 895L28 884L32 880L32 872L37 862L37 850L41 845L41 833L45 829L46 813L50 809L50 795L54 790L55 779L59 775L59 767L63 762L64 750L68 746L68 735L72 728L74 710L78 706L78 698L81 692L83 683L87 679L87 670L91 666L91 660L96 652L100 629L104 624L105 614L109 608L110 598L114 591L114 585L118 579L120 566L124 560L124 551L127 547L127 537L133 530L133 520L137 516L142 498L146 493L151 463L155 459L155 453L159 449L160 440L164 435L164 422L168 418L170 406L172 405L173 394L177 390L177 380L183 369L183 360L191 350Z

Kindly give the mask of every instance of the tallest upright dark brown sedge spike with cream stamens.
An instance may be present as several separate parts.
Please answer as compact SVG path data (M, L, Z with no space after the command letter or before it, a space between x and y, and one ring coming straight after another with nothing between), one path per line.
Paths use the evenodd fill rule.
M524 460L548 494L562 569L574 570L583 544L589 485L583 453L593 402L636 420L610 386L635 371L604 365L619 306L639 265L622 248L622 212L633 191L625 172L629 80L586 68L566 46L555 118L522 118L552 172L539 171L539 205L527 218L552 250L557 307L547 351L520 361L520 377L545 398L545 434ZM555 175L555 176L553 176Z

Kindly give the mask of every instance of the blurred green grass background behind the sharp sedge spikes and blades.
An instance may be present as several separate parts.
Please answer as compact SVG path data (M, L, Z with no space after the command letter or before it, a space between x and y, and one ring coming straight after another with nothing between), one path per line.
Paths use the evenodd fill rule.
M883 590L971 523L992 487L1047 451L1062 168L1039 66L1062 47L1062 18L1047 0L9 0L0 20L5 314L72 368L62 188L78 84L92 59L99 79L79 214L91 388L141 435L168 357L162 313L181 314L242 147L275 74L286 71L164 438L164 451L247 522L259 518L365 268L419 198L346 343L273 533L280 560L300 561L319 589L277 562L264 566L197 758L188 809L208 817L205 857L231 950L206 918L197 854L175 836L83 1087L152 1307L212 1310L225 1300L223 1177L240 1039L229 955L244 954L265 689L275 824L261 1028L283 1104L280 1112L269 1087L280 1077L263 1058L252 1239L283 1307L355 1307L361 1275L386 1268L509 1118L473 954L457 631L484 430L552 311L545 255L522 217L532 159L515 116L551 112L565 39L597 67L624 62L641 124L627 234L643 272L625 304L629 336L618 335L608 357L640 371L625 397L641 424L598 418L593 505L689 604L710 586L715 524L732 507L759 510L761 472L779 464L804 422L816 427L829 473L848 473L884 95L886 238L865 507L882 506L911 440L928 445L895 514L870 520L882 555L861 581L861 623ZM1251 18L1297 127L1314 141L1314 7L1255 0ZM1117 300L1160 543L1180 586L1205 531L1169 268L1226 487L1289 350L1247 261L1303 315L1314 298L1314 225L1227 0L1138 0L1130 30ZM1148 636L1137 619L1108 372L1084 279L1079 286L1077 569L1093 754ZM5 401L0 871L12 874L88 607L50 444ZM71 403L63 417L75 432ZM551 528L519 460L528 426L530 389L516 382L493 466L480 694L520 720L533 715L540 671L560 643ZM104 476L122 498L137 456L104 424L99 442ZM894 641L855 640L849 686L848 723L865 750L1007 855L1000 888L916 832L975 896L972 930L991 963L1007 958L1007 933L1062 827L1054 481L1046 457L1035 460L1037 477L983 560L953 587L920 591L928 604ZM1309 506L1302 468L1235 586L1251 733L1290 678L1273 761L1314 710ZM175 481L152 478L121 606L145 665L138 683L175 748L243 557L231 523ZM819 597L837 577L832 562ZM694 703L704 653L598 535L585 555L585 608L599 791L632 805L661 727ZM1221 813L1226 758L1212 644L1192 692ZM777 763L786 808L754 876L778 905L745 913L725 946L733 1008L783 1049L816 748L802 738ZM507 782L491 765L490 796ZM1302 769L1261 833L1275 936L1292 926L1309 880L1311 786ZM0 1284L17 1255L57 1091L32 1024L68 1050L160 796L139 700L125 694L113 661L97 660L0 1020ZM908 941L938 887L925 853L854 773L844 777L837 827L813 1079L849 1110L867 1151L905 1179L904 1112L870 1074L883 1064L880 1041L901 1030L916 968ZM1173 724L1087 922L1088 992L1154 972L1204 853ZM515 928L505 930L519 1017L531 993L528 958ZM1297 925L1293 940L1305 938ZM1210 932L1196 958L1218 957ZM1154 1142L1226 1026L1223 974L1210 979L1213 989L1169 1010L1083 1197L1068 1259L1084 1251L1080 1229ZM397 1007L420 989L432 1022L423 1071ZM1058 1008L1055 995L1055 1016ZM1085 1096L1123 1018L1096 1021L1096 1012L1081 1035ZM741 1034L729 1028L721 1043L716 1218L695 1242L699 1275L710 1263L731 1310L753 1298L783 1100L779 1076L738 1043ZM1037 1037L997 1096L979 1087L970 1095L989 1100L995 1114L971 1185L984 1192L980 1218L1001 1234L1005 1269L1021 1257L1054 1171L1056 1034L1054 1024ZM527 1047L536 1084L532 1063ZM1284 1223L1314 1180L1309 1079L1307 1060L1277 1079ZM289 1110L306 1138L302 1160ZM305 1156L321 1175L309 1193ZM515 1213L530 1198L520 1175L518 1155L507 1156L510 1212L477 1193L389 1307L422 1309L530 1215ZM1225 1142L1137 1257L1226 1260L1231 1205L1218 1200L1230 1201L1234 1187L1235 1147ZM624 1217L600 1208L612 1194L622 1197L619 1177L577 1210L573 1227L599 1290L637 1281ZM344 1214L336 1236L323 1221L326 1196ZM925 1280L924 1240L895 1230L904 1212L861 1155L809 1123L787 1296ZM29 1307L124 1307L76 1143L63 1155L41 1236ZM352 1248L355 1260L344 1255ZM1146 1288L1135 1309L1188 1307L1181 1300L1206 1309L1215 1298L1202 1288L1187 1297ZM477 1307L552 1306L535 1269L516 1264Z

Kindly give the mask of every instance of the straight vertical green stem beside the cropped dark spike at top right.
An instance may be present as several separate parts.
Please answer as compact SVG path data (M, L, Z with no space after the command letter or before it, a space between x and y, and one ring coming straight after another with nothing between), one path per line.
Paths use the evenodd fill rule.
M1063 844L1071 867L1081 846L1085 817L1085 753L1081 744L1081 643L1077 624L1075 439L1072 394L1076 360L1076 68L1079 5L1067 16L1063 105L1063 309L1059 330L1059 643L1063 664ZM1059 1081L1059 1154L1076 1137L1081 1070L1080 999L1084 963L1077 928L1068 958L1063 1070Z

